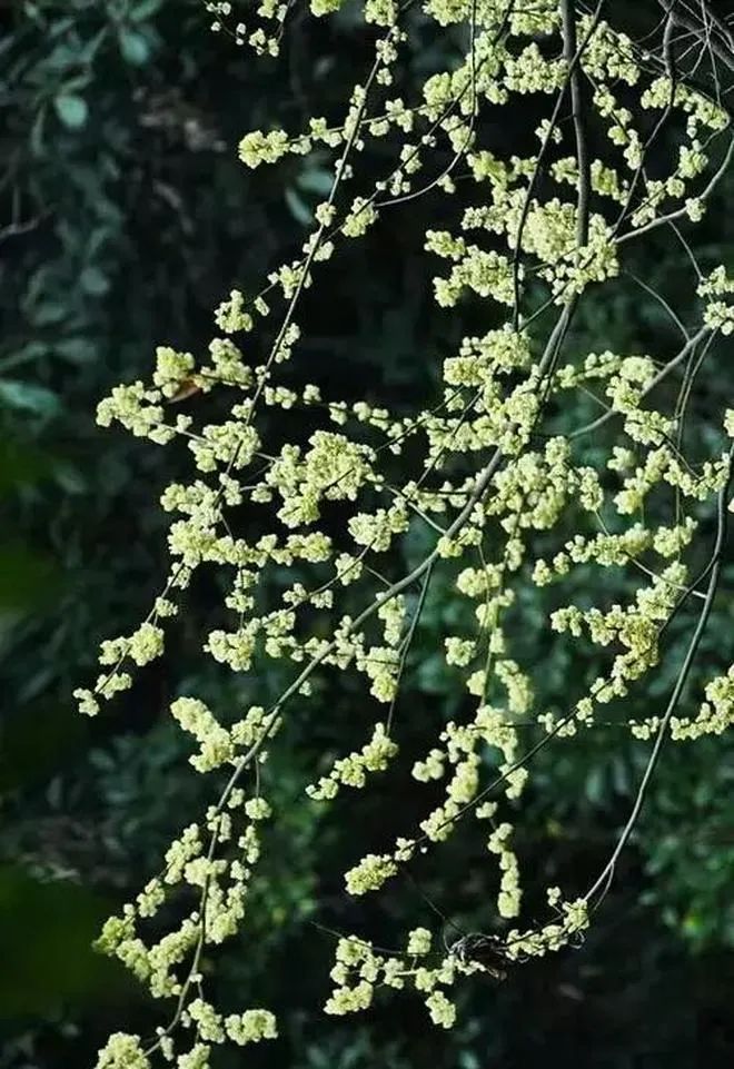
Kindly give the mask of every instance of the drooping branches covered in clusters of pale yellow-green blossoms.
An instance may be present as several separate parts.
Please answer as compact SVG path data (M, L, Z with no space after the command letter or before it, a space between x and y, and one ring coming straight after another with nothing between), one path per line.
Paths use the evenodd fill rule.
M264 3L252 24L231 23L229 3L208 8L212 29L277 56L287 6ZM311 3L316 17L339 8L338 0ZM155 1037L111 1036L100 1069L147 1069L158 1055L195 1069L208 1066L222 1042L276 1037L267 1008L226 1013L214 1004L204 961L247 924L255 867L268 862L260 823L278 815L267 801L268 755L286 744L290 710L314 701L328 669L364 677L365 692L385 710L354 752L325 774L314 770L304 804L328 805L373 781L379 791L379 776L393 765L399 771L404 759L410 790L444 784L418 827L385 841L379 853L356 849L346 893L379 892L418 857L438 853L459 823L477 820L499 869L485 927L502 931L436 948L433 933L417 927L393 950L341 936L325 1003L333 1014L364 1010L386 989L409 989L434 1025L449 1028L459 983L476 973L497 977L498 963L575 946L614 879L664 740L731 724L731 674L707 683L695 715L680 707L720 583L734 455L734 409L725 396L710 455L687 454L696 378L734 324L734 280L724 266L704 274L680 227L701 220L730 164L730 113L717 83L698 77L705 37L691 60L668 12L659 48L643 52L604 21L603 9L599 2L582 13L572 0L429 0L418 11L410 2L367 0L375 59L341 119L315 117L292 135L251 131L240 142L249 168L317 147L334 155L330 191L301 254L272 270L260 293L231 290L216 311L219 333L207 356L161 346L150 384L118 386L99 406L103 426L119 423L157 445L187 446L192 474L161 498L175 518L160 592L131 635L102 643L102 673L76 692L80 711L96 715L132 685L136 666L160 656L184 592L212 566L226 576L227 623L202 634L202 650L255 679L268 660L290 671L270 705L232 714L192 694L171 703L195 743L191 764L211 776L212 802L171 843L160 873L105 924L100 949L155 998L169 1000L170 1011ZM464 49L404 101L391 96L401 49L426 24L439 33L458 28L450 32L460 32ZM535 116L526 155L493 150L493 112ZM389 151L393 162L366 188L359 157L375 139L386 146L380 159ZM318 285L321 265L338 257L345 238L399 217L418 197L440 204L442 228L425 235L437 304L455 315L478 307L486 329L467 334L454 353L436 342L428 356L440 385L414 412L347 403L315 384L284 385L284 365L298 358L301 298ZM696 273L692 325L642 281L646 298L662 303L680 329L677 352L661 363L609 352L603 337L598 352L579 352L575 319L604 300L609 285L634 278L636 242L656 231L683 242ZM247 356L255 333L268 339L261 360ZM207 394L231 398L218 422L189 414L199 400L208 410ZM175 407L189 397L196 399L185 413ZM591 420L581 416L589 397L599 409ZM306 446L288 441L287 414L296 407L314 424ZM282 409L280 445L262 439L268 408ZM598 443L594 464L583 455L589 435ZM257 516L255 537L238 527L242 505ZM418 529L428 547L408 566L401 547ZM290 567L309 580L285 588L268 583ZM564 581L589 567L603 577L603 593L592 588L583 604L564 603ZM470 624L445 636L444 655L464 677L473 715L406 753L400 685L437 582L467 607L460 618ZM524 590L545 587L554 594L548 633L579 659L597 651L597 674L588 686L583 673L571 679L563 709L538 707L534 673L543 667L515 654L513 613ZM632 719L625 699L666 655L665 632L680 613L690 614L690 637L672 692L662 706L651 704L648 716ZM591 884L547 888L545 919L529 920L513 842L530 759L595 730L603 715L616 716L641 745L652 740L628 821Z

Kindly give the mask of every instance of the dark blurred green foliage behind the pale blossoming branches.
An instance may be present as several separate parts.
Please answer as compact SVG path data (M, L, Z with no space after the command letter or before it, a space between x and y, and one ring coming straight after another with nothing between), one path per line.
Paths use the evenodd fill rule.
M615 17L634 26L638 7L615 0ZM349 14L315 23L296 12L277 62L235 49L208 32L208 21L201 4L185 0L0 9L2 1069L81 1069L108 1031L147 1032L157 1022L156 1007L90 943L107 913L157 869L179 814L206 799L186 742L165 716L168 701L194 686L226 700L231 685L198 659L216 592L197 587L175 645L130 694L95 722L73 710L71 691L93 674L97 643L136 625L165 566L157 499L177 463L168 451L100 430L96 404L116 383L145 378L157 344L201 353L212 309L232 285L251 290L295 255L328 188L325 159L250 172L237 160L237 141L252 128L297 130L309 115L339 113L368 55L364 27ZM450 32L416 38L405 86L450 60L453 48ZM523 126L495 133L512 152ZM731 264L731 192L727 181L698 231L712 266ZM294 380L328 382L334 397L419 402L435 374L437 339L446 352L466 333L460 316L433 304L423 267L421 234L440 210L403 211L324 273L305 304L306 370ZM651 242L637 255L637 270L685 307L691 280L680 247ZM671 343L659 308L622 286L582 317L579 344L585 336L592 348L599 336L613 349L664 352ZM708 414L731 389L730 362L731 346L695 398L702 448ZM591 461L593 451L589 444ZM732 661L732 573L727 564L702 679ZM523 608L526 620L539 620L537 605ZM460 710L456 680L434 653L453 612L440 591L427 606L403 703L408 736ZM532 627L528 634L532 656L532 642L542 640ZM673 628L673 663L683 637ZM563 695L568 664L561 646L540 652L549 654L552 702ZM653 700L671 674L664 665ZM259 681L265 691L277 684L275 673ZM345 901L340 873L355 828L368 842L378 816L384 831L385 812L401 810L404 819L411 802L400 796L401 781L387 776L381 798L366 801L348 825L338 811L318 818L290 804L318 755L350 748L349 725L357 717L364 726L374 712L354 684L328 686L324 709L327 702L336 719L323 727L294 715L292 745L277 759L284 816L269 833L267 880L256 883L246 934L210 963L242 1006L279 1013L281 1039L248 1049L248 1065L733 1063L730 741L666 753L585 946L516 969L503 984L477 982L445 1033L415 999L356 1019L319 1012L333 940L310 921L386 939L406 922L438 931L428 898L470 929L483 921L467 903L485 887L489 903L496 890L486 854L459 835L440 871L406 881L379 918ZM561 879L584 885L608 854L646 759L644 746L618 735L596 734L538 762L518 842L538 888ZM236 1051L221 1065L244 1060Z

